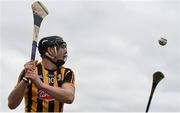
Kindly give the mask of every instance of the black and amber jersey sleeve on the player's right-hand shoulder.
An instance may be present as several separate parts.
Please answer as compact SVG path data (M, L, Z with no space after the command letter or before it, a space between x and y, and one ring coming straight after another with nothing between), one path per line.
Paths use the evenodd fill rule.
M70 83L71 85L74 86L75 84L74 82L75 82L74 72L70 69L67 69L65 72L63 83Z

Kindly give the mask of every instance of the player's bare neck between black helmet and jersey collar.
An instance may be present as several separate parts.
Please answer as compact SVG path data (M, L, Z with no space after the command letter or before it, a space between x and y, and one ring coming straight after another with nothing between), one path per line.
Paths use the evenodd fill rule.
M46 69L49 69L49 70L57 69L57 66L53 64L51 61L49 61L48 59L42 59L42 63Z

